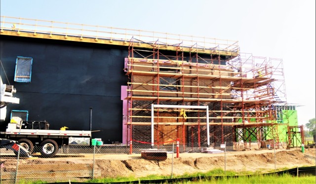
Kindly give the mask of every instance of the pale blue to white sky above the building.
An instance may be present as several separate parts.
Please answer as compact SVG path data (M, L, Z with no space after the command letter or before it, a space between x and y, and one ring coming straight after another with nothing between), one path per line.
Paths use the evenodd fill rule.
M299 125L316 116L315 0L0 0L0 15L238 40L283 60Z

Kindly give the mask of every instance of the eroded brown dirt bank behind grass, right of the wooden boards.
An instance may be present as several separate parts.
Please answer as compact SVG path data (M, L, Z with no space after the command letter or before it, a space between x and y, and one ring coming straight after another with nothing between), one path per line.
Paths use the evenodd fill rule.
M225 165L223 154L213 154L208 157L180 157L168 158L164 161L151 161L142 158L127 160L101 160L97 161L98 167L108 172L101 172L102 177L130 176L144 177L148 175L183 175L186 173L207 172L212 169L222 168ZM233 171L258 171L268 172L275 169L274 152L250 153L243 151L243 154L227 155L226 170ZM181 154L180 154L181 156ZM300 149L282 150L276 152L276 169L293 168L297 166L314 166L315 148L306 149L302 153Z

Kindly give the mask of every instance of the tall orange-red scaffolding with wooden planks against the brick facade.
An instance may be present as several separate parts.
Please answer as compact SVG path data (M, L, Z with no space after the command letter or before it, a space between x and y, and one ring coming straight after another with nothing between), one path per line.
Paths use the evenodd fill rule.
M151 45L152 49L141 49L140 44ZM171 52L165 51L167 46L159 39L145 42L132 37L129 41L125 72L130 145L151 143L152 147L159 147L180 141L183 150L185 147L192 150L216 147L224 142L235 148L240 143L250 148L253 142L260 148L266 140L279 143L277 125L282 122L278 122L276 107L286 106L286 96L284 80L276 88L274 82L280 77L276 79L274 75L284 79L281 60L240 54L238 47L224 54L219 52L219 46L206 49L198 43L189 49L182 42L177 43ZM272 65L275 60L276 67ZM158 108L152 111L152 104L207 106L209 127L205 110ZM152 116L154 130L151 130ZM276 147L279 145L282 146L276 144Z

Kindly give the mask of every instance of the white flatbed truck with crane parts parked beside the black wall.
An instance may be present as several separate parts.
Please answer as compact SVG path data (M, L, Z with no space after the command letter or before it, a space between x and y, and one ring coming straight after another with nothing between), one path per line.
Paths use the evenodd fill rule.
M6 106L19 104L20 99L14 97L16 90L13 85L3 84L1 77L0 82L0 120L4 121ZM62 145L88 146L91 140L91 131L63 130L62 128L49 130L49 124L46 121L22 121L20 117L11 117L5 131L0 133L2 139L17 141L30 153L34 151L34 146L39 146L43 157L55 156ZM16 151L15 153L17 154Z

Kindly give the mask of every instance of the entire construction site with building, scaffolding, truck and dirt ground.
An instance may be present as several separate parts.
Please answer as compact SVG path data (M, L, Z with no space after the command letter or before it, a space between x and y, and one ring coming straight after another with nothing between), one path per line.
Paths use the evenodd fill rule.
M241 50L237 40L0 16L0 183L315 172L282 59Z

